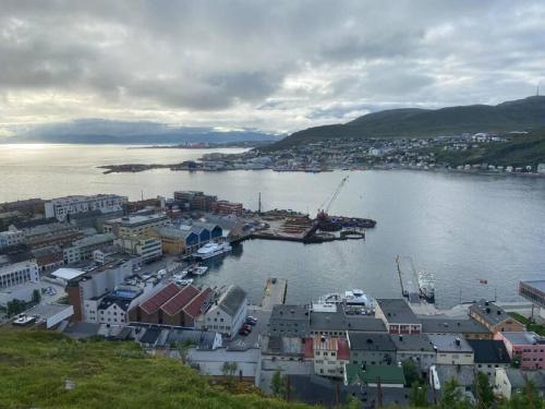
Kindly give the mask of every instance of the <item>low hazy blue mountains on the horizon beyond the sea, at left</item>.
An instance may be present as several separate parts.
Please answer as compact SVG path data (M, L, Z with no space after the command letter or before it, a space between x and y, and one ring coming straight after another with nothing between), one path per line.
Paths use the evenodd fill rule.
M169 127L157 122L75 120L37 125L3 143L66 144L180 144L276 142L281 136L253 130L218 131L213 128Z

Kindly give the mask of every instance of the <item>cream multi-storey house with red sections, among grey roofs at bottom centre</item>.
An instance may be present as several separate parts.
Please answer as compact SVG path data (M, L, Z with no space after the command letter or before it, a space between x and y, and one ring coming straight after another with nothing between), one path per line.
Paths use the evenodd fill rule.
M344 376L344 365L349 363L350 353L344 338L315 335L305 339L306 356L314 359L314 373L320 376Z

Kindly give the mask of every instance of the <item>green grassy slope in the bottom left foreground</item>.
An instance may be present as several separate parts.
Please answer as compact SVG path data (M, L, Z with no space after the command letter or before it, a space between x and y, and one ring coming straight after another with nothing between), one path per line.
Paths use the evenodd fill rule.
M75 382L72 390L64 381ZM135 342L75 341L57 333L0 329L0 408L306 408L232 395L180 362Z

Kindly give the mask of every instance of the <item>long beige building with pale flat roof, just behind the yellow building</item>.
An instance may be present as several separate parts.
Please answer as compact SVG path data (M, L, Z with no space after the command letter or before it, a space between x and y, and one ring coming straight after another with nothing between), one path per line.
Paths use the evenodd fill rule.
M104 224L105 233L113 233L118 239L134 236L150 236L156 227L170 225L170 218L162 213L152 215L124 216Z

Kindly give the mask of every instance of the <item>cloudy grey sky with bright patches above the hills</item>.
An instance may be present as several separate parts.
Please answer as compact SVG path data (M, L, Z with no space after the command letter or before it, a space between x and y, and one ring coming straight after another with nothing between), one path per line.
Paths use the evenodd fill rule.
M283 133L540 81L541 0L0 0L3 135L84 118Z

